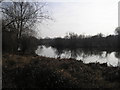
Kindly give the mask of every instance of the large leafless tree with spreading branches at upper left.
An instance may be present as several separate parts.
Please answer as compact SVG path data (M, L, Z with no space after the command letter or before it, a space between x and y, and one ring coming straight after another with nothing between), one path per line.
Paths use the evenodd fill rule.
M3 30L15 32L18 44L20 44L22 35L33 33L33 27L36 23L51 19L45 6L45 2L26 2L24 0L2 2ZM18 47L20 46L18 45Z

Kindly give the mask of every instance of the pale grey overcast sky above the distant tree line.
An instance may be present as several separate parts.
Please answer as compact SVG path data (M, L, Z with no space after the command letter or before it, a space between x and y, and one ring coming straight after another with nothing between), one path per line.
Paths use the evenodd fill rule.
M118 1L49 2L48 7L55 21L49 21L40 26L38 28L40 36L63 37L67 32L85 35L95 35L100 32L105 35L114 34L114 30L118 26Z

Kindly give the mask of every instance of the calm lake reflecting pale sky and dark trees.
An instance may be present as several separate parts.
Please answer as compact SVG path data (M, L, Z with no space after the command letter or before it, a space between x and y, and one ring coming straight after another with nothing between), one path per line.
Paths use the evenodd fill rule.
M108 66L120 66L120 52L108 52L100 50L56 49L51 46L38 46L35 51L39 56L52 58L73 58L82 60L83 63L107 63Z

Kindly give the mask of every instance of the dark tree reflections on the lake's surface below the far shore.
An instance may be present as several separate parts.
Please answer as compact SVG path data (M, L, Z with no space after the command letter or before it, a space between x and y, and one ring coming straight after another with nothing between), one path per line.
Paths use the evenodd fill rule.
M72 49L62 49L62 48L56 48L55 53L57 54L58 57L61 57L61 54L68 55L70 58L76 59L78 56L79 57L89 57L92 55L99 56L100 58L105 58L107 55L111 52L103 52L102 50L97 50L97 49L83 49L83 48L72 48Z

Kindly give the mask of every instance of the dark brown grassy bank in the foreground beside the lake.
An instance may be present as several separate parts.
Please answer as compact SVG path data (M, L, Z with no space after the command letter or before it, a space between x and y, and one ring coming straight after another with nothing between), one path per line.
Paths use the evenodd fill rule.
M3 88L120 88L120 68L73 59L3 55Z

